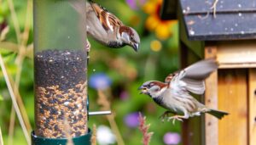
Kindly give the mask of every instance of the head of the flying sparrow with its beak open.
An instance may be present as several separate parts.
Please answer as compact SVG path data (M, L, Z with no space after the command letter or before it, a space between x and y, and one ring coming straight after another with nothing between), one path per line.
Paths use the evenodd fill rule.
M158 98L164 91L166 91L166 88L166 83L160 81L147 81L138 89L141 90L141 93L147 94L151 98Z

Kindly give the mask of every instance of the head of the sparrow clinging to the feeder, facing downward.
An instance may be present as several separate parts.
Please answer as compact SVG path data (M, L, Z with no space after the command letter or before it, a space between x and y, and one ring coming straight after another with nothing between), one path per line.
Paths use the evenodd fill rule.
M139 49L140 37L133 28L128 26L121 26L119 28L119 34L122 42L131 46L136 52Z

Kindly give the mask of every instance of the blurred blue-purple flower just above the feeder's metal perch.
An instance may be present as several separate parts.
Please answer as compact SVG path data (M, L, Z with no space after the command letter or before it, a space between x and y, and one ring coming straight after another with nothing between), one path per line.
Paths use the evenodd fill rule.
M98 90L105 90L111 85L112 81L104 73L90 75L89 86Z

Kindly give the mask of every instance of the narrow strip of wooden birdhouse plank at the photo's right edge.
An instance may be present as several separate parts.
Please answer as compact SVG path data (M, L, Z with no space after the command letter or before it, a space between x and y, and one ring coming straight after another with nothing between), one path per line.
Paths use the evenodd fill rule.
M249 142L256 145L256 69L249 70Z

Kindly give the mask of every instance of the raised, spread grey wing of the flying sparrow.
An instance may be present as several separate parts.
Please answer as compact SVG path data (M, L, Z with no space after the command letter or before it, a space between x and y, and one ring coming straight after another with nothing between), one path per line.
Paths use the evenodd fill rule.
M206 89L204 80L217 69L218 64L215 59L201 60L184 70L168 75L166 82L177 92L185 91L201 95Z

